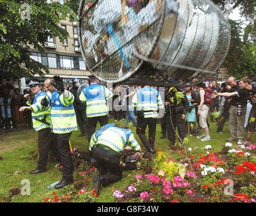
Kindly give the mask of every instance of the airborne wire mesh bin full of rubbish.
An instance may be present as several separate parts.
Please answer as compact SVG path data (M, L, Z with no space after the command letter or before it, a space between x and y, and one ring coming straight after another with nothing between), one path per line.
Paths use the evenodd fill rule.
M202 81L223 63L230 26L209 0L82 0L79 41L105 82Z

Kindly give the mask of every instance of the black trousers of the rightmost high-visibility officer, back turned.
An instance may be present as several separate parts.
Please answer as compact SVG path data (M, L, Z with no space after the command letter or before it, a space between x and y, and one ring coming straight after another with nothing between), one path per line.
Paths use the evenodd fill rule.
M157 118L145 117L137 119L136 134L148 151L149 148L154 148L154 140L156 138L156 123ZM148 138L146 137L146 128L148 126Z

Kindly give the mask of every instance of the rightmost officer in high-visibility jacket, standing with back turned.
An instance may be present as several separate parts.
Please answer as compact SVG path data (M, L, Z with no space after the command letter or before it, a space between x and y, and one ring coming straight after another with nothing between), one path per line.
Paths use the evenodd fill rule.
M154 140L156 137L156 123L158 117L158 109L164 108L161 95L158 90L150 86L144 86L136 90L131 101L133 107L137 107L137 128L136 134L142 140L146 147L146 151L154 154ZM148 138L145 131L148 126Z

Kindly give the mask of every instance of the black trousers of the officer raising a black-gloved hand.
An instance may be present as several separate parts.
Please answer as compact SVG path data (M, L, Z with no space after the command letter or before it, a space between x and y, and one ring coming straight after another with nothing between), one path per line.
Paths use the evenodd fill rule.
M67 134L56 134L60 161L63 165L62 180L66 182L72 182L73 180L73 163L69 146L70 136L71 132Z

